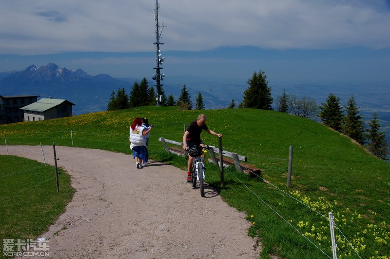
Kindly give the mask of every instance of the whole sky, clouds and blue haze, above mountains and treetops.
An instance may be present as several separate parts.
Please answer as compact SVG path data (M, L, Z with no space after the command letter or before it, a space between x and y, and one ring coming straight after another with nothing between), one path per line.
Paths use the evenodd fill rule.
M390 82L389 0L159 0L169 77ZM155 0L17 0L0 9L0 72L54 62L150 80Z

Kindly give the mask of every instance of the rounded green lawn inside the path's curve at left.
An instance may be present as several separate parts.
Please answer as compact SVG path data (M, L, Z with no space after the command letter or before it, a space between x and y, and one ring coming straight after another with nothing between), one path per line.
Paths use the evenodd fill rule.
M72 199L70 177L59 170L58 193L53 166L15 156L0 156L0 164L0 240L36 239Z

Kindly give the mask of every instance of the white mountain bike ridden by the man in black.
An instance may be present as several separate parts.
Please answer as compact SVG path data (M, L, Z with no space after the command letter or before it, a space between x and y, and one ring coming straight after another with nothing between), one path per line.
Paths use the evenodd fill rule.
M204 159L201 156L206 154L207 150L213 147L215 146L194 146L188 150L188 155L194 157L194 162L191 165L191 186L195 189L196 180L199 180L199 189L201 197L204 197L204 180L206 179Z

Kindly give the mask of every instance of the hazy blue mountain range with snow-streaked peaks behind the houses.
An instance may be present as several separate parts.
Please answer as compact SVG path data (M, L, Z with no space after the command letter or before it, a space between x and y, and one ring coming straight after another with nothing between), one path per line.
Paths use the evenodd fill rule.
M36 67L31 65L22 71L0 73L0 95L39 95L40 98L66 99L76 104L73 114L105 111L113 91L125 88L129 94L135 81L142 79L115 79L106 74L88 75L82 69L68 70L54 63ZM149 86L153 85L149 82ZM175 99L180 94L183 84L163 85L165 94L172 94ZM198 91L188 87L195 106ZM202 91L203 101L208 109L226 108L231 99L226 96L214 96ZM39 99L40 99L39 98Z

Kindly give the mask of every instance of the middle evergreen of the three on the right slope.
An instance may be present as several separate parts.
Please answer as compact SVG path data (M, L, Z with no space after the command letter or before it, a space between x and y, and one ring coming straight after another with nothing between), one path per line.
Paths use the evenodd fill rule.
M344 105L345 111L347 112L346 116L343 116L343 133L352 139L355 139L358 143L364 144L365 142L365 127L364 121L362 120L363 116L358 114L359 107L356 106L355 99L351 96L347 105Z

